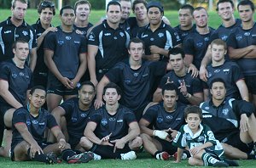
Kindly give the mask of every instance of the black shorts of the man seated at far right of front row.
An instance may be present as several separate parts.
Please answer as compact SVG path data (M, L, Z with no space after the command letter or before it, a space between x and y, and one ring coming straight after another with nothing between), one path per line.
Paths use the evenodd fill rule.
M234 132L225 137L220 143L227 143L232 147L239 148L242 152L250 153L253 149L253 143L243 143L240 139L240 132Z

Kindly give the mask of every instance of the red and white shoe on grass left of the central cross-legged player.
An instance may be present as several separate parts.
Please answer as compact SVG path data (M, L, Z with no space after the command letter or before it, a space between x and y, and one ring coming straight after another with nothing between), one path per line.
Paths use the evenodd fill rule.
M83 154L76 154L72 157L67 159L67 163L69 164L75 164L75 163L87 163L90 160L93 160L93 153L92 152L86 152Z

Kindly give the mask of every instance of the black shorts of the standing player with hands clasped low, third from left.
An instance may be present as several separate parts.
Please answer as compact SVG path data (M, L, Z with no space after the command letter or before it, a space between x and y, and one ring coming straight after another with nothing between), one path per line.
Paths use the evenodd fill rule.
M55 76L49 74L48 81L47 81L47 93L53 93L60 96L65 95L78 95L78 88L75 87L74 89L67 89L61 81L59 81Z

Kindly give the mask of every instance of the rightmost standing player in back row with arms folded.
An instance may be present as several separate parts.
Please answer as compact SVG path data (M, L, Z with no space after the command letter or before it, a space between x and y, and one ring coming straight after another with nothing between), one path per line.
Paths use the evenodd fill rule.
M241 1L237 5L241 18L241 26L234 30L228 38L230 59L240 66L248 87L250 101L256 106L256 25L253 20L254 4Z

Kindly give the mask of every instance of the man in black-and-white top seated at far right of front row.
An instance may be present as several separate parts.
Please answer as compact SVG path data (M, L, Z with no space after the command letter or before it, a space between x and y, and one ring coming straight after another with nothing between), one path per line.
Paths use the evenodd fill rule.
M212 98L200 105L203 123L209 126L214 136L223 143L227 157L255 160L255 153L250 154L256 146L253 104L226 98L226 85L221 78L213 79L210 88Z

